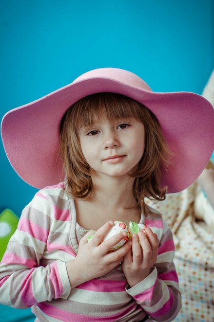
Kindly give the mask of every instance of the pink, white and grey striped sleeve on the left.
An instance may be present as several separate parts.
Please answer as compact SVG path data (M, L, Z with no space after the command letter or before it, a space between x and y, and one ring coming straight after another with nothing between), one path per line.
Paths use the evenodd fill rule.
M63 257L59 260L60 254L54 254L57 251L50 240L50 230L55 229L57 222L54 211L41 191L23 210L0 264L2 304L27 308L37 302L69 296L71 288L65 260Z

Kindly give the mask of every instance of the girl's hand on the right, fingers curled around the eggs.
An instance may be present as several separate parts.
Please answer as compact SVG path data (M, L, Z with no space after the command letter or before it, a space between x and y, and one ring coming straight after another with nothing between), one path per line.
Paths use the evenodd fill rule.
M141 242L141 245L139 243ZM132 251L123 260L123 272L130 287L141 282L150 274L151 267L157 262L159 240L150 228L145 233L139 231L132 235Z

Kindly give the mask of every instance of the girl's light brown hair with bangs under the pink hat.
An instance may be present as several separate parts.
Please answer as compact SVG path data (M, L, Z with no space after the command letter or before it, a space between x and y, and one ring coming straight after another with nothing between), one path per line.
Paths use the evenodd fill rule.
M65 113L60 128L60 149L69 192L74 198L89 198L93 184L91 169L80 145L78 131L98 119L134 118L145 128L145 150L135 177L133 193L138 205L146 213L144 198L165 199L166 187L161 186L161 169L167 166L169 149L157 118L141 103L121 94L98 93L74 103Z

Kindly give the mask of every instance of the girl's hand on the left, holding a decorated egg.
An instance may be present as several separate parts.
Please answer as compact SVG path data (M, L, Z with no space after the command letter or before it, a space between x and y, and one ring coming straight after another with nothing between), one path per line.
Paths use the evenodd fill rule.
M108 251L113 245L127 236L126 232L120 232L120 234L102 242L104 236L113 224L113 221L104 224L95 232L90 242L87 241L87 237L93 232L87 232L80 241L75 259L66 262L68 277L72 288L83 282L107 274L123 261L123 257L131 248L130 241L113 253L108 253Z

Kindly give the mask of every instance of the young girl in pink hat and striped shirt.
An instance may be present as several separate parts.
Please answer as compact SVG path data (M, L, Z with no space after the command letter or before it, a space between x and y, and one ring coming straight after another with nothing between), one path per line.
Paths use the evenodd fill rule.
M41 190L1 262L1 303L32 307L36 322L173 320L172 234L144 198L164 200L196 180L213 151L213 114L199 95L153 93L117 68L7 113L8 158ZM125 237L103 242L118 220L148 228L109 252Z

